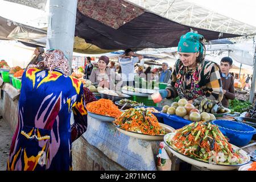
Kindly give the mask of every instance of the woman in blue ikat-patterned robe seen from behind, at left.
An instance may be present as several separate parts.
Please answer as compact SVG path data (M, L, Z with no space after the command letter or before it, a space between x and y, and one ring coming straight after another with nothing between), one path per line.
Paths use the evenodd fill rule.
M86 131L81 81L68 76L63 52L51 49L44 56L22 76L18 126L7 161L10 171L72 170L72 142Z

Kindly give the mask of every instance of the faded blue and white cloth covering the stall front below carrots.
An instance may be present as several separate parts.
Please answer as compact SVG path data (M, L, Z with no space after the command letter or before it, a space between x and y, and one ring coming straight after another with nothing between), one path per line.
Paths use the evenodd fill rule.
M147 141L119 133L112 123L88 115L86 141L127 170L156 170L160 141Z

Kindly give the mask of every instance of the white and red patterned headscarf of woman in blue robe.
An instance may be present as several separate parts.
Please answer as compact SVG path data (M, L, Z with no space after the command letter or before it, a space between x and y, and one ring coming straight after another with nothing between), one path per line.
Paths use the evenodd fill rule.
M69 75L69 64L68 59L65 57L64 53L59 49L49 49L42 55L44 57L43 61L40 61L38 64L31 64L28 66L30 68L38 69L57 69L64 73L64 75Z

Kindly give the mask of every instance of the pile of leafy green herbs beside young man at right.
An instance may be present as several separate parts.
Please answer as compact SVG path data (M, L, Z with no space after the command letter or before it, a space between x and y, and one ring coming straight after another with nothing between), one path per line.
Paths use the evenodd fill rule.
M229 100L229 109L231 110L231 113L234 114L234 112L237 113L243 113L251 109L253 107L251 105L251 102L248 101L240 101L237 99Z

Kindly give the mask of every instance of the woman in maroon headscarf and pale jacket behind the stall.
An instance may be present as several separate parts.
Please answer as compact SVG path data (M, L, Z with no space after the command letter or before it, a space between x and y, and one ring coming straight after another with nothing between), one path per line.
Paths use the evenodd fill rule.
M98 59L98 68L93 69L90 75L90 81L97 82L98 86L108 88L110 90L119 90L122 86L122 78L113 69L107 67L109 57L101 56Z

